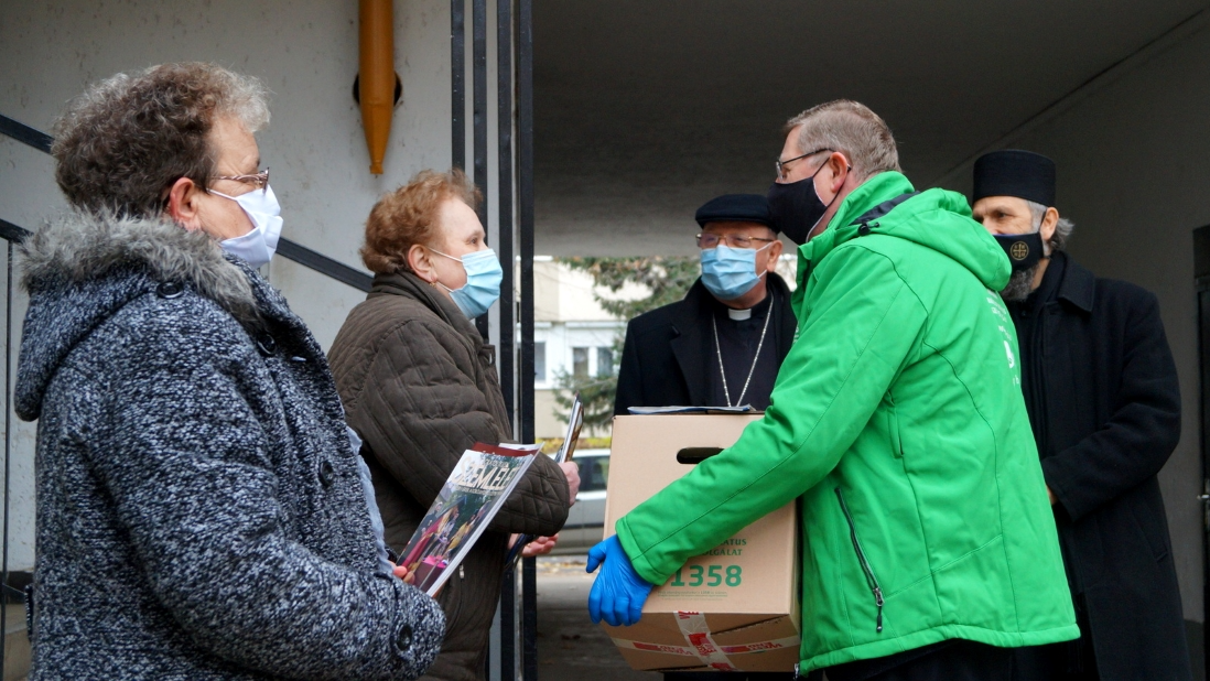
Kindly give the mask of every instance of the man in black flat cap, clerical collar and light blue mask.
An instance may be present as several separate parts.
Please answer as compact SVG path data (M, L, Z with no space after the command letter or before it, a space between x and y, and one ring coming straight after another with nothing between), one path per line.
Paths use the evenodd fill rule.
M794 342L790 292L777 276L782 242L768 203L728 194L697 210L702 276L684 300L626 328L615 414L630 406L768 406Z

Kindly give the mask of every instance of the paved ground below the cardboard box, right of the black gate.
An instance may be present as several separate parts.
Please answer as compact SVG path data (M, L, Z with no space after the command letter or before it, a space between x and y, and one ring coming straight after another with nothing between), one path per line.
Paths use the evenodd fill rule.
M659 681L662 675L634 671L609 636L588 619L584 556L542 556L537 564L537 659L544 680Z

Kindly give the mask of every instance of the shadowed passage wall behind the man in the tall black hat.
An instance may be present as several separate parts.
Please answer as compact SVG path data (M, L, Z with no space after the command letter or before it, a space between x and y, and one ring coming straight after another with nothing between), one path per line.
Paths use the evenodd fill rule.
M1210 224L1210 27L1203 23L1081 93L1061 114L998 146L1059 167L1072 255L1099 276L1159 296L1180 371L1181 443L1160 473L1187 619L1204 622L1193 236ZM946 181L969 194L969 166Z

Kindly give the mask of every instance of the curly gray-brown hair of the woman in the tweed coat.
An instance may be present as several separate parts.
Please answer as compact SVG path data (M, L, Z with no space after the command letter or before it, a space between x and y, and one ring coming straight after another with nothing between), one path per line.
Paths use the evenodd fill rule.
M206 187L219 117L248 132L269 125L269 91L214 64L160 64L90 86L54 122L54 179L90 213L156 217L179 178Z

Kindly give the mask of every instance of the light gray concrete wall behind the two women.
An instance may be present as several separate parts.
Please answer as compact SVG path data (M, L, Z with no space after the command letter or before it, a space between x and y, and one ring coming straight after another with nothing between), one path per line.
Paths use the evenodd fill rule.
M494 17L494 8L489 11ZM63 104L85 83L161 62L211 60L259 76L273 91L272 123L258 142L282 203L283 236L361 267L362 229L378 196L422 168L450 165L449 34L448 2L396 2L394 64L403 99L394 112L386 173L378 177L369 173L361 114L352 99L357 2L5 2L0 112L48 131ZM469 144L467 149L469 154ZM492 154L489 167L494 165ZM45 155L0 138L0 218L36 229L62 210L52 171ZM325 348L348 308L363 299L361 292L281 258L269 273ZM18 319L22 312L17 311ZM33 431L18 427L15 435L17 553L11 567L28 569L33 562Z

